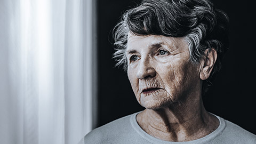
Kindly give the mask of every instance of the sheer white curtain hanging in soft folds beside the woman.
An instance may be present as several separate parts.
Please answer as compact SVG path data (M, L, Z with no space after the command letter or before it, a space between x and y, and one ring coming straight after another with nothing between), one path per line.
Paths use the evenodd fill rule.
M83 143L95 124L93 0L0 1L0 143Z

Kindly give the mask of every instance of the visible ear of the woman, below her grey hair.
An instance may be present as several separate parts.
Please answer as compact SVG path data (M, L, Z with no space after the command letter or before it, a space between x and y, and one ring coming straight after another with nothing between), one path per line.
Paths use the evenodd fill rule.
M202 80L209 78L216 60L217 51L215 49L205 50L204 57L200 61L199 76Z

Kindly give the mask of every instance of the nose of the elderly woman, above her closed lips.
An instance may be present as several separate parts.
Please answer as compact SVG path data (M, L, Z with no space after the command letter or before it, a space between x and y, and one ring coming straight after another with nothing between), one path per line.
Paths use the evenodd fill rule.
M149 77L155 77L156 70L151 65L149 59L141 59L137 71L137 77L139 79L147 79Z

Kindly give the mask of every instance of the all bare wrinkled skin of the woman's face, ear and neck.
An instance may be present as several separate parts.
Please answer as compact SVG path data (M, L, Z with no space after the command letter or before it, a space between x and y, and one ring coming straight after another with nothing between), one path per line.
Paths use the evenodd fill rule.
M205 110L201 97L202 81L217 59L215 50L207 50L195 66L183 37L129 33L127 40L127 74L146 108L136 117L145 132L166 141L190 141L217 129L219 121Z

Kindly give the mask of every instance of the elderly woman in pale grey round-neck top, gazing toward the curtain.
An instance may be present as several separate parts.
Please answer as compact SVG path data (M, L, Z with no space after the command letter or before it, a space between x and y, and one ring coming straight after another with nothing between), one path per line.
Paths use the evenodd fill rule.
M227 24L208 0L145 0L126 11L114 57L146 109L93 130L85 143L256 143L202 101L228 48Z

